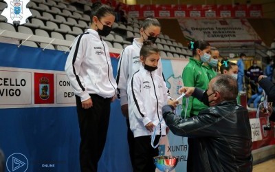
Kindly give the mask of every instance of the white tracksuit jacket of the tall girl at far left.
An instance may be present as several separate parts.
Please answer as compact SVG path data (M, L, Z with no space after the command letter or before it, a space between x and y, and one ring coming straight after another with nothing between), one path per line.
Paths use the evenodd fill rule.
M109 47L96 30L88 29L76 37L65 72L81 101L89 99L89 94L103 98L115 96L117 84L113 78Z

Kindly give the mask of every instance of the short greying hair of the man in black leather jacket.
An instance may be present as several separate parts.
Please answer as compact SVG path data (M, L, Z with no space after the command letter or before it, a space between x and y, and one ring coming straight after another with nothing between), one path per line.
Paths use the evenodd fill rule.
M238 96L238 83L236 79L230 75L221 74L216 76L217 80L213 83L214 92L219 92L223 100L236 100Z

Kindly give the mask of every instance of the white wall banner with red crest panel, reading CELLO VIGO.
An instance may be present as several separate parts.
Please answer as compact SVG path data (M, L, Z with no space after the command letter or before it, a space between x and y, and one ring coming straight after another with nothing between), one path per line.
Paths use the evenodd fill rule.
M52 80L49 76L53 76ZM43 86L47 87L46 97L42 95ZM75 105L76 98L65 72L0 67L0 109Z

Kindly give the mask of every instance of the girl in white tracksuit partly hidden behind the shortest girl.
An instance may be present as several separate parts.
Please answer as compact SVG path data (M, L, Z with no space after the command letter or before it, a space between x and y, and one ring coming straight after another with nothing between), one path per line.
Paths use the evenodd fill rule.
M129 144L129 154L131 163L133 164L133 133L130 129L128 118L128 96L127 85L131 80L133 74L140 69L140 49L143 42L150 40L155 43L157 36L160 34L160 24L157 19L147 18L143 21L140 28L140 38L135 38L133 44L124 48L120 54L120 61L118 62L118 74L116 76L116 83L118 84L118 98L120 99L120 105L122 114L126 117L126 124L128 127L127 139ZM155 71L157 75L162 76L162 63L159 61L157 69ZM165 82L165 81L164 81Z

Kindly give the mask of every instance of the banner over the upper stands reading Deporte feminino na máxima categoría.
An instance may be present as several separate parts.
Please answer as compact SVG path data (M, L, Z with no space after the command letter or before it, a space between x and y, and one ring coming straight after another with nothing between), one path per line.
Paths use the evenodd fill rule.
M247 19L178 19L186 39L215 44L251 44L261 41Z

